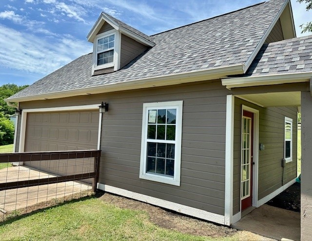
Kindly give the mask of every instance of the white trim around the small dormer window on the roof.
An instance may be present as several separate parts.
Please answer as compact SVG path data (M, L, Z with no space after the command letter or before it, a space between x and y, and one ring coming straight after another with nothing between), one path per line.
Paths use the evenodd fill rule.
M115 43L114 43L114 61L112 63L106 63L97 65L98 58L98 39L110 36L115 34ZM93 63L92 63L92 74L96 70L106 69L110 67L114 67L114 71L117 71L120 68L120 48L121 48L121 34L116 29L107 31L105 33L98 34L93 42Z

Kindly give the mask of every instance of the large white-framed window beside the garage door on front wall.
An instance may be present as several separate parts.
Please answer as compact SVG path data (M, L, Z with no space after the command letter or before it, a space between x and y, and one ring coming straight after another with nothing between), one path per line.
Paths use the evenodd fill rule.
M139 178L180 185L183 101L143 104Z

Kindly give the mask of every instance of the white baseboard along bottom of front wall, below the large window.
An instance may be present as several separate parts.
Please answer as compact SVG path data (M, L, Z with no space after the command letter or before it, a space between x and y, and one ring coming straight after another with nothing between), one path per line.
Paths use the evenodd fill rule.
M128 191L128 190L121 189L118 187L109 186L109 185L102 184L102 183L98 183L98 189L103 190L105 192L114 193L114 194L121 195L127 198L131 198L134 200L147 202L147 203L159 206L159 207L168 208L178 213L190 215L198 219L224 224L223 215L207 212L201 209L189 207L189 206L182 205L182 204L172 202L172 201L166 201L166 200L150 197L147 195L139 194L136 192Z

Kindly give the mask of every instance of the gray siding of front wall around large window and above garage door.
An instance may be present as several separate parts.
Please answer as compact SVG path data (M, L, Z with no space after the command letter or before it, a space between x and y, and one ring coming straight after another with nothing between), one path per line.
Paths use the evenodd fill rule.
M106 101L99 182L224 215L226 95L220 80L21 103L21 108ZM183 100L181 185L139 179L143 103Z

